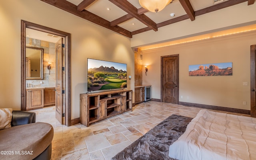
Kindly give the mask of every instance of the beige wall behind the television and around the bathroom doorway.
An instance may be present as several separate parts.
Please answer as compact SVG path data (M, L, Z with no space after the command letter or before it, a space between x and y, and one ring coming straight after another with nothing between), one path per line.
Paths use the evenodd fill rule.
M71 119L79 117L79 96L87 91L87 58L127 63L134 89L130 39L40 0L0 1L0 108L21 106L21 20L71 33Z

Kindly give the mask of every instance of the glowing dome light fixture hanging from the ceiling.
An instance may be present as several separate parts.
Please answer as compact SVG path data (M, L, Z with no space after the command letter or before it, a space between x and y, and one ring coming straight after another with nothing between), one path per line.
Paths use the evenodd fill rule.
M169 3L172 3L172 0L139 0L139 3L150 12L160 12Z

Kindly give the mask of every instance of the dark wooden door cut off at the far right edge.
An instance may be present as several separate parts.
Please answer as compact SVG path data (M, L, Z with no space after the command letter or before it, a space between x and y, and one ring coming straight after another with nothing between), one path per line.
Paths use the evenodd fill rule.
M256 45L251 45L251 117L256 117Z

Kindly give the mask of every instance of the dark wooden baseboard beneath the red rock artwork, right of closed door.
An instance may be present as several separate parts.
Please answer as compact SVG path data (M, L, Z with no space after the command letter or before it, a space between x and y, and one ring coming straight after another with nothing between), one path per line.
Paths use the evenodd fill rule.
M198 107L198 108L206 108L206 109L215 109L218 111L227 111L227 112L234 112L234 113L241 113L250 115L251 111L245 109L236 109L236 108L228 108L228 107L219 107L214 105L204 105L204 104L196 104L196 103L188 103L188 102L179 102L180 105L186 105L190 107Z

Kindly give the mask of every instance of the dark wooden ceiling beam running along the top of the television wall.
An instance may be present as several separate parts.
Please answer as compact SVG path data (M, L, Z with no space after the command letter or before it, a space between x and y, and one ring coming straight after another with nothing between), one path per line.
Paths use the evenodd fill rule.
M130 31L122 28L122 27L119 27L119 26L114 26L114 27L111 27L110 26L110 21L107 21L91 12L88 12L86 10L83 10L82 12L79 12L77 10L77 6L66 1L66 0L41 0L42 2L45 2L45 3L48 3L52 6L55 6L57 8L60 8L66 12L69 12L71 14L74 14L78 17L81 17L85 20L88 20L88 21L91 21L92 23L95 23L97 25L100 25L102 27L105 27L107 29L110 29L116 33L119 33L121 35L124 35L126 37L129 37L129 38L132 38L132 34Z

